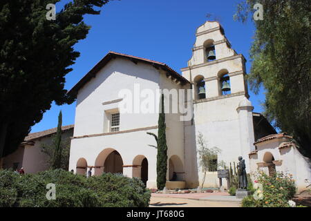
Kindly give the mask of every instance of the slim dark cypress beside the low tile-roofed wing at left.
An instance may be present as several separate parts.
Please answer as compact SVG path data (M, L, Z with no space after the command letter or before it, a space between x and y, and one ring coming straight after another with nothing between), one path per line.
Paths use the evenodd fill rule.
M62 167L62 111L59 111L57 132L54 140L54 154L52 169L60 169Z

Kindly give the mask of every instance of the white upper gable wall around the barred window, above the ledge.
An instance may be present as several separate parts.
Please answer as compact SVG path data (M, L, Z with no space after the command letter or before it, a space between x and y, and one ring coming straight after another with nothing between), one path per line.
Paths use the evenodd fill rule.
M134 84L138 84L140 90L154 91L159 88L159 82L160 75L156 68L142 63L135 65L129 59L113 59L79 90L74 136L104 133L104 111L117 108L118 103L102 103L120 99L120 90L129 89L133 92ZM158 103L155 101L155 104ZM120 131L156 125L158 115L146 113L143 116L141 113L122 114Z

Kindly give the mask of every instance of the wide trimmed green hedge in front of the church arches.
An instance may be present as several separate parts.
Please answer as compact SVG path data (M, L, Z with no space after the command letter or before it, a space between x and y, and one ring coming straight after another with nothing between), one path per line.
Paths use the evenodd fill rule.
M46 184L56 187L56 199L46 198ZM0 206L99 207L149 206L151 193L138 178L104 173L86 178L57 169L19 175L0 171Z

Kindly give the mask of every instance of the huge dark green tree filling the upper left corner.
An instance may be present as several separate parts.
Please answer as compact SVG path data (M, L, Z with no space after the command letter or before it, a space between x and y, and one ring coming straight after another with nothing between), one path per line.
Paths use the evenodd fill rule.
M46 6L59 1L0 1L0 158L17 149L53 101L74 101L64 83L79 57L73 46L90 29L83 16L109 2L73 0L48 21Z

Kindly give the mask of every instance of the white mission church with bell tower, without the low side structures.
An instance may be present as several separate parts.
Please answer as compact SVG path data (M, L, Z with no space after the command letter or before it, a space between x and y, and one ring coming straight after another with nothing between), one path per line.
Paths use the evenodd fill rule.
M156 140L158 112L122 113L121 90L133 94L137 86L156 93L162 89L191 89L185 103L192 119L182 113L166 113L167 188L196 188L202 180L198 162L198 134L209 148L221 152L218 162L229 166L238 156L245 159L256 151L255 139L276 133L261 114L253 113L245 79L245 58L238 55L216 21L196 30L196 42L182 75L166 64L117 52L109 52L70 91L77 97L75 128L70 146L69 170L94 175L103 172L141 177L147 187L156 188ZM137 91L136 91L137 92ZM164 100L171 100L164 94ZM157 97L155 104L160 103ZM184 104L181 104L184 105ZM175 174L176 175L173 175ZM218 186L217 174L207 173L205 186Z

